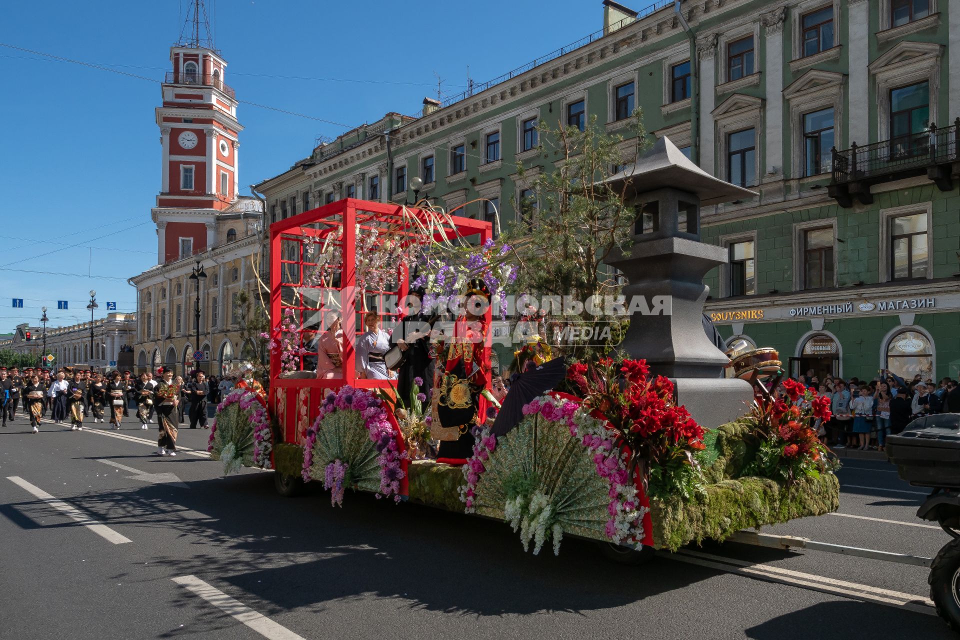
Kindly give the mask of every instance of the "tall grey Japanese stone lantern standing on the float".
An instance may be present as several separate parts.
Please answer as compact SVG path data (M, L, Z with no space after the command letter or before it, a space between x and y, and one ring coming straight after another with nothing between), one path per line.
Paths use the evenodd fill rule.
M756 194L710 176L665 137L607 182L636 201L637 212L633 246L609 263L629 281L623 288L628 305L643 296L640 308L662 310L631 316L622 348L670 378L677 401L701 425L712 429L744 415L753 388L724 377L729 359L704 331L704 276L727 262L727 251L700 242L700 206Z

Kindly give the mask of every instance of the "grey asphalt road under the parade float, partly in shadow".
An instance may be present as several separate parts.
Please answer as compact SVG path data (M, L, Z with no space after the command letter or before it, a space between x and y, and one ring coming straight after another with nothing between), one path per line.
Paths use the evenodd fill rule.
M108 426L0 432L0 637L955 637L921 567L740 544L632 567L575 539L534 557L502 523L224 478L208 431L161 458L156 425ZM922 490L892 470L849 460L847 515L765 531L932 557L948 536L916 526Z

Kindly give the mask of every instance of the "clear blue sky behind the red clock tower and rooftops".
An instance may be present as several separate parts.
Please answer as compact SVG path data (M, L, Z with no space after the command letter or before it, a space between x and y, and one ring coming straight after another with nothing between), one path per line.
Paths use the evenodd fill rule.
M187 4L4 3L0 42L158 81ZM435 72L453 95L466 87L468 66L486 82L600 29L603 17L600 0L206 5L238 99L348 127L387 111L417 113L423 96L436 97ZM96 318L106 301L134 311L126 279L156 264L159 83L7 47L0 73L0 333L36 323L44 305L48 326L89 320L91 289ZM316 136L345 130L243 104L238 118L241 185L276 176L309 154ZM58 311L57 300L69 309Z

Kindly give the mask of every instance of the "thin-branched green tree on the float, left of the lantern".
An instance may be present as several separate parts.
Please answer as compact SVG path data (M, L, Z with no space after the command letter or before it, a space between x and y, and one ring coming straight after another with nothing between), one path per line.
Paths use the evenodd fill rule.
M571 296L580 302L620 293L620 279L606 262L614 251L633 244L636 209L626 202L630 180L619 182L616 189L608 181L636 162L646 147L640 109L624 128L632 139L607 133L597 126L595 116L583 131L564 123L549 129L540 121L540 157L557 168L532 178L528 178L530 169L519 168L519 178L532 195L527 201L514 202L518 216L507 232L521 267L517 291ZM574 342L564 348L568 355L588 357L609 351L626 329L624 318L606 311L597 315L585 305L575 315L547 320L590 328L594 335L609 328L609 336L600 341Z

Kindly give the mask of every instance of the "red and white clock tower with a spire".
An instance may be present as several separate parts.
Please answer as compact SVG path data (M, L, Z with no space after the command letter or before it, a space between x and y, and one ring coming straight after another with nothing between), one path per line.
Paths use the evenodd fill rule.
M156 107L161 184L153 209L159 264L216 244L218 215L238 197L236 94L213 48L203 0L193 0Z

